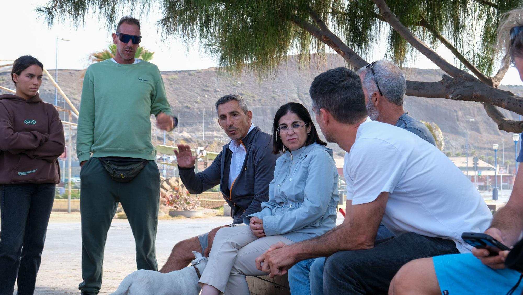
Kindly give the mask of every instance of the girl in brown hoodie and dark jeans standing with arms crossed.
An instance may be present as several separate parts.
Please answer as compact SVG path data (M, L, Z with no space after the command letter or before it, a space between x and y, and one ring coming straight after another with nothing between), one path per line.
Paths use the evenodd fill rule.
M15 95L0 95L0 295L32 294L64 151L58 111L38 95L43 65L14 64Z

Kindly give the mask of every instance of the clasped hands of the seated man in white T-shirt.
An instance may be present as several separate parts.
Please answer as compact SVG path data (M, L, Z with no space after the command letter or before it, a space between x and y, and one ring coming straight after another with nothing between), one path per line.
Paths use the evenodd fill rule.
M269 273L270 278L287 274L287 270L298 262L288 249L289 246L283 242L271 245L264 254L256 258L256 268Z

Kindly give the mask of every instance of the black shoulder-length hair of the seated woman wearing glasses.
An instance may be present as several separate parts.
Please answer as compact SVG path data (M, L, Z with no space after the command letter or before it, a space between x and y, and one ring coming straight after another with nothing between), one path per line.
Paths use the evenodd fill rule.
M288 103L281 106L276 112L276 115L274 116L274 122L272 123L273 154L277 155L282 151L285 152L286 150L286 147L283 146L283 143L281 142L280 134L276 129L278 128L278 123L280 122L281 117L287 115L289 112L291 112L292 114L296 114L303 122L305 122L305 124L310 124L311 126L311 132L309 135L307 135L305 146L314 142L319 143L321 145L327 145L326 142L320 139L318 132L316 131L316 127L314 126L314 123L312 123L309 111L302 104Z

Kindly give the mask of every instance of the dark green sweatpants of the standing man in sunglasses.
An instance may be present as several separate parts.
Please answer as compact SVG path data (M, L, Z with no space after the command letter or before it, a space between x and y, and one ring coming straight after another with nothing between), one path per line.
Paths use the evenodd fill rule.
M82 278L79 289L98 294L107 232L122 204L136 243L138 269L158 270L155 237L160 205L160 172L149 161L130 182L112 180L98 158L90 158L80 172L82 220Z

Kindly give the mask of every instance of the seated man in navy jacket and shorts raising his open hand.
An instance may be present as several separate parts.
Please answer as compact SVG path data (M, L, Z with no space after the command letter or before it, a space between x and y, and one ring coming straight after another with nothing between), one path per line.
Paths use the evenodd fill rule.
M261 211L261 202L269 200L269 183L279 155L272 154L272 137L251 123L252 112L239 95L222 96L215 103L218 123L231 141L204 171L195 173L196 155L188 145L178 144L176 160L181 181L191 194L201 194L220 184L225 201L231 206L230 225L243 225L243 218ZM169 273L186 267L198 251L209 256L219 226L208 233L181 241L173 247L160 270Z

